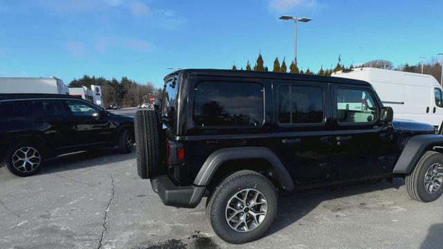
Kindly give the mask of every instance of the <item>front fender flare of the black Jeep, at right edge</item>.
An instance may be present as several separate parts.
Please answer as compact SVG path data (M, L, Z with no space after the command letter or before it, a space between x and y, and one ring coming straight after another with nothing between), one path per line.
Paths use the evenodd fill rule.
M409 174L417 165L426 148L431 145L443 145L443 136L424 134L411 137L404 147L399 160L395 164L394 174Z

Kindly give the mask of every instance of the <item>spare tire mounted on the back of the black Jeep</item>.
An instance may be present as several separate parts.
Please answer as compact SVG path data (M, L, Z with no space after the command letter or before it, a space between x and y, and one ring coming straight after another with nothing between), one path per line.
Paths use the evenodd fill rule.
M138 176L143 179L152 178L159 173L161 165L159 116L152 110L137 111L134 126Z

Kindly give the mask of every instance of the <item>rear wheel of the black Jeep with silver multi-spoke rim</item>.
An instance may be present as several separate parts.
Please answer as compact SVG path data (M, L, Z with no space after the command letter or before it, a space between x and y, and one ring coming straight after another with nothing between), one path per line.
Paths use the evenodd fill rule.
M228 243L260 239L277 214L277 192L268 178L242 170L219 183L209 197L206 216L214 232Z

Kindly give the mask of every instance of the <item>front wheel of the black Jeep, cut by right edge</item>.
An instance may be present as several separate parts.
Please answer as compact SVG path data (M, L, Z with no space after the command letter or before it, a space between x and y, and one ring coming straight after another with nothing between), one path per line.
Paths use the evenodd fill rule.
M406 176L410 198L431 202L443 194L443 154L426 151L411 174Z

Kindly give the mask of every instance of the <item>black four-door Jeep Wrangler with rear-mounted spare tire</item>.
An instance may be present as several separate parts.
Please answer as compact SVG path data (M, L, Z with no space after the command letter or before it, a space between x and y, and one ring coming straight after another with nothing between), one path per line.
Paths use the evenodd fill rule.
M136 113L138 175L165 205L206 210L230 243L260 238L278 191L406 178L412 199L442 195L443 136L392 120L368 82L187 69L165 77L159 112Z

